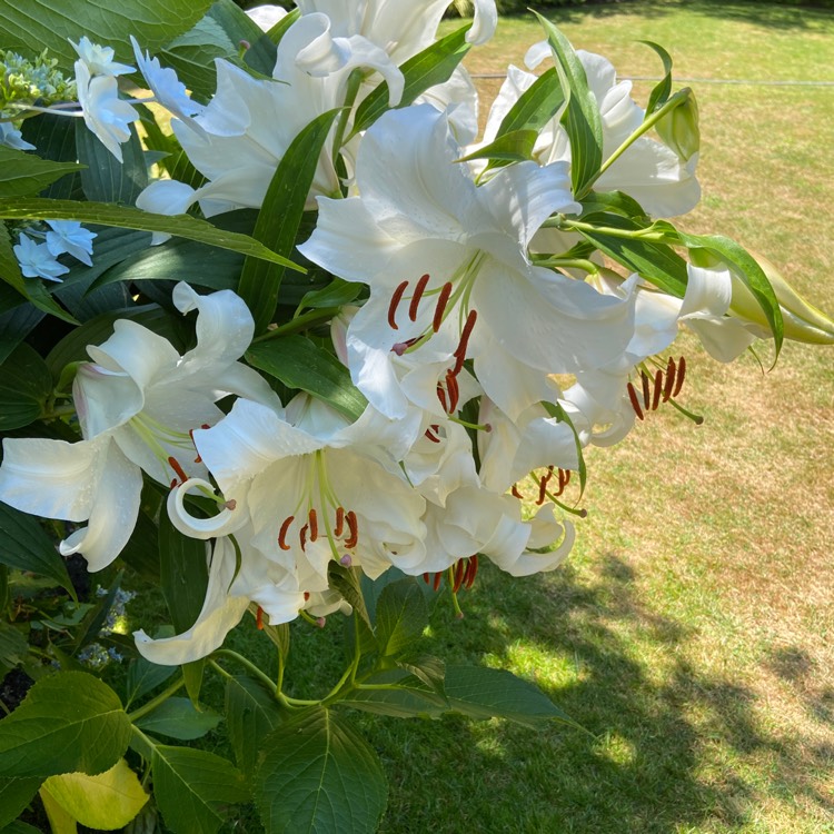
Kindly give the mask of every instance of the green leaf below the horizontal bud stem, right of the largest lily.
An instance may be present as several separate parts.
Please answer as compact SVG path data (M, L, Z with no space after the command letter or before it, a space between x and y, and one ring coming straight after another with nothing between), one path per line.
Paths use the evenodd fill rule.
M594 231L583 229L579 232L597 249L664 292L677 298L684 297L688 280L686 261L671 246L606 234L605 227L618 231L638 231L645 228L620 215L593 215L583 220L603 227Z

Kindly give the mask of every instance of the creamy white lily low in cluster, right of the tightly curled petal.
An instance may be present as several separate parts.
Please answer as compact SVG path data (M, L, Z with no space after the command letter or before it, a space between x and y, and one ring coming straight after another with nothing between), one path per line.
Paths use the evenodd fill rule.
M195 443L224 499L248 508L252 545L324 590L330 559L375 577L423 558L425 502L396 465L413 434L373 409L349 425L300 395L286 414L239 399Z

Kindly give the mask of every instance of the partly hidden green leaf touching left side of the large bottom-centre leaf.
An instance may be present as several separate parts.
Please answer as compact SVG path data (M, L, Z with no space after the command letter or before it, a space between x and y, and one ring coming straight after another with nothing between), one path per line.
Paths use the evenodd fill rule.
M251 775L260 743L281 723L275 698L257 681L235 676L226 681L226 726L238 767Z

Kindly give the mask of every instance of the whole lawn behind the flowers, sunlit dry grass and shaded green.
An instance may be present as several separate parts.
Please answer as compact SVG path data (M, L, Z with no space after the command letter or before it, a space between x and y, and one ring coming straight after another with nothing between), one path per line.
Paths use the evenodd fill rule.
M624 76L657 75L636 42L651 39L682 77L834 80L824 12L641 2L552 17ZM470 70L520 63L539 31L502 21ZM736 237L834 310L834 88L691 86L704 200L685 228ZM705 425L662 409L593 450L566 565L527 579L487 566L464 620L444 597L433 616L435 654L537 682L588 734L356 715L390 780L385 834L834 832L834 354L787 345L763 375L692 338L682 350L683 401ZM294 634L288 679L316 696L338 674L336 618Z

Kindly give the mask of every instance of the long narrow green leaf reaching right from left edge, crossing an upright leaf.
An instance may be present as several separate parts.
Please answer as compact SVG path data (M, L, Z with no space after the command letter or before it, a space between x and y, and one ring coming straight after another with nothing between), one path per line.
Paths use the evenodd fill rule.
M206 220L198 220L189 215L168 217L141 211L137 208L110 206L103 202L46 200L38 197L28 197L17 200L0 200L0 218L7 220L80 220L81 222L101 224L102 226L116 226L121 229L163 231L304 271L302 267L271 249L267 249L262 244L246 235L224 231Z

